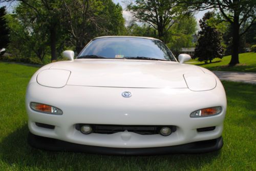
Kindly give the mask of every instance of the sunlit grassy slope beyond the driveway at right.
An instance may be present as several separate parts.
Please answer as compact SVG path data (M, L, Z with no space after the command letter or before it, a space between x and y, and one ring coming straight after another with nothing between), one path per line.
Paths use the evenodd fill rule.
M188 62L195 62L190 64L202 66L209 70L256 72L256 53L239 54L240 64L232 67L227 66L230 59L231 56L225 56L222 59L215 58L211 64L204 64L204 62L198 62L196 59L191 59Z

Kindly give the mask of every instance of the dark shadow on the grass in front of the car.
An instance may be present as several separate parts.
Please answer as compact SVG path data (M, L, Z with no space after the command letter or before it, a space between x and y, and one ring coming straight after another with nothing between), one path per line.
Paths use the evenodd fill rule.
M18 168L84 170L200 169L219 158L221 151L199 155L106 156L70 152L49 152L31 148L24 125L0 143L2 161Z

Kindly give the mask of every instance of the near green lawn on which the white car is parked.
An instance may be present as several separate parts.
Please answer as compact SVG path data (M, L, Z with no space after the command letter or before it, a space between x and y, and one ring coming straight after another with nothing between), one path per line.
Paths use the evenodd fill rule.
M137 157L60 153L33 149L27 144L25 93L37 69L0 62L0 170L256 169L256 85L223 82L228 108L224 146L219 152Z

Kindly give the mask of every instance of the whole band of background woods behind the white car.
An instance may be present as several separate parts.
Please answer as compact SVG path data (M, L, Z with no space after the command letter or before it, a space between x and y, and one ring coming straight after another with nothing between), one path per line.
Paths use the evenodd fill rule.
M231 55L229 65L239 63L239 53L256 47L256 2L251 0L134 0L126 3L125 9L112 0L0 3L15 4L8 12L4 7L0 10L0 50L5 48L11 55L0 57L2 60L46 64L62 60L63 50L78 54L94 37L108 35L159 38L175 56L184 53L183 49L196 47L193 57L206 63L224 54ZM211 11L212 15L204 19L204 25L199 25L195 14L203 10ZM123 12L129 12L132 19L125 21ZM212 37L204 38L205 35ZM208 49L212 49L210 40L214 39L218 48L212 50L211 57L202 57L205 53L198 51L200 46L209 44Z

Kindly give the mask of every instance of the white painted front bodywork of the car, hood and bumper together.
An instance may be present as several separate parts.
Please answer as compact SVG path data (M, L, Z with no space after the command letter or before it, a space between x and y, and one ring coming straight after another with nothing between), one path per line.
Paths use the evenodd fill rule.
M56 80L55 80L56 79ZM132 96L121 94L129 91ZM31 102L48 104L62 115L40 113ZM215 116L191 118L193 111L221 106ZM27 87L29 130L34 135L113 148L149 148L215 139L221 136L226 95L209 70L171 61L75 59L41 67ZM49 124L55 129L37 127ZM133 132L84 135L75 124L174 125L169 136ZM198 128L213 127L207 132Z

